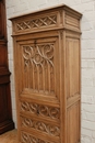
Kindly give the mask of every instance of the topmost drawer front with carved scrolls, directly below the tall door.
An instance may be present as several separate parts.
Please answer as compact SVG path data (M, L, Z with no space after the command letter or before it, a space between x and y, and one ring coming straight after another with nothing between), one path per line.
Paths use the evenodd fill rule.
M57 107L50 107L46 105L38 105L35 102L21 101L20 112L35 116L51 121L59 122L60 110Z

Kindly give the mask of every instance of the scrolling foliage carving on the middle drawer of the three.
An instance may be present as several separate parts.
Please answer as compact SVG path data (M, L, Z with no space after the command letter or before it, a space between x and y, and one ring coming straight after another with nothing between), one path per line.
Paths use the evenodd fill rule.
M35 120L23 118L23 117L21 119L21 122L23 127L33 128L41 132L46 132L50 135L59 136L60 134L59 128L56 125L47 124L40 121L35 121Z

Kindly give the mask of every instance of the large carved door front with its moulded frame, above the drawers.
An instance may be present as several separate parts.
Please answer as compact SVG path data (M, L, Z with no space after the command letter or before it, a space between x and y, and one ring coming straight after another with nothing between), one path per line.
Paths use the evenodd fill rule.
M56 58L58 53L58 37L39 38L35 36L29 41L21 41L16 48L19 74L19 92L27 94L34 97L34 94L48 96L49 98L59 98L57 76L59 69L59 59ZM57 76L57 78L56 78ZM48 99L49 99L48 98Z

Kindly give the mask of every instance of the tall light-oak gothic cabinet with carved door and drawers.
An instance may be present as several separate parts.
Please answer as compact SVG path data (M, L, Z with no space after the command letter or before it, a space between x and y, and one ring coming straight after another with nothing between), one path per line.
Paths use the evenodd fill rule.
M80 19L67 6L12 18L21 143L80 142Z

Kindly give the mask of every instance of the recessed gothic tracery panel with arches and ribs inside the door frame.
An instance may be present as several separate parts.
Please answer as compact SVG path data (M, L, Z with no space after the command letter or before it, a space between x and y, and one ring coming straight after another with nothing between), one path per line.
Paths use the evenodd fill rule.
M34 92L55 92L54 51L54 43L23 46L25 88Z

